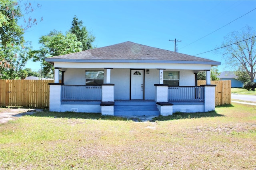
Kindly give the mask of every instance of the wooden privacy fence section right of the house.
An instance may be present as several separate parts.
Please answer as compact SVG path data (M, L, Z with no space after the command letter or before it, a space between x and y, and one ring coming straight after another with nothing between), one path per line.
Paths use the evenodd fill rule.
M205 80L198 80L197 85L205 85ZM211 81L215 88L215 105L231 104L231 80Z

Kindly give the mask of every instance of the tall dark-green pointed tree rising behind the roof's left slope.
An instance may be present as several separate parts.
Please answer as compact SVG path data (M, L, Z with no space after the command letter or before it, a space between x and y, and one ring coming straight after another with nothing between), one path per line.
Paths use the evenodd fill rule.
M77 40L82 43L82 50L92 49L92 43L95 40L95 37L92 36L87 30L86 27L83 26L83 22L78 21L78 18L75 16L72 21L72 26L70 28L70 32L75 34Z

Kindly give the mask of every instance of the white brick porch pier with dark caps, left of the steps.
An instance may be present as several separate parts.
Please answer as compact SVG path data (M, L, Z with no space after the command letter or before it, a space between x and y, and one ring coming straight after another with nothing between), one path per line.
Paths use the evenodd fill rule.
M102 85L101 114L114 115L114 84Z

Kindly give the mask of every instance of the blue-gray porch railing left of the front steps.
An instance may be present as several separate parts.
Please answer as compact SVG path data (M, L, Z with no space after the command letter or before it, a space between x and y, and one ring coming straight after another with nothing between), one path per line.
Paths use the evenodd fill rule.
M101 101L102 86L62 85L62 101Z

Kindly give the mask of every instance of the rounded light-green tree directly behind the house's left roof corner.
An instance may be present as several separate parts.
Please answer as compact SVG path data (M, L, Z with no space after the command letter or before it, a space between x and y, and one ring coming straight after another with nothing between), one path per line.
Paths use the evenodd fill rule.
M64 35L56 30L51 31L48 35L40 37L39 43L42 44L42 47L39 50L31 51L30 56L33 57L33 61L42 63L44 77L54 73L54 67L44 60L46 57L82 51L82 43L77 40L75 34L70 32Z

